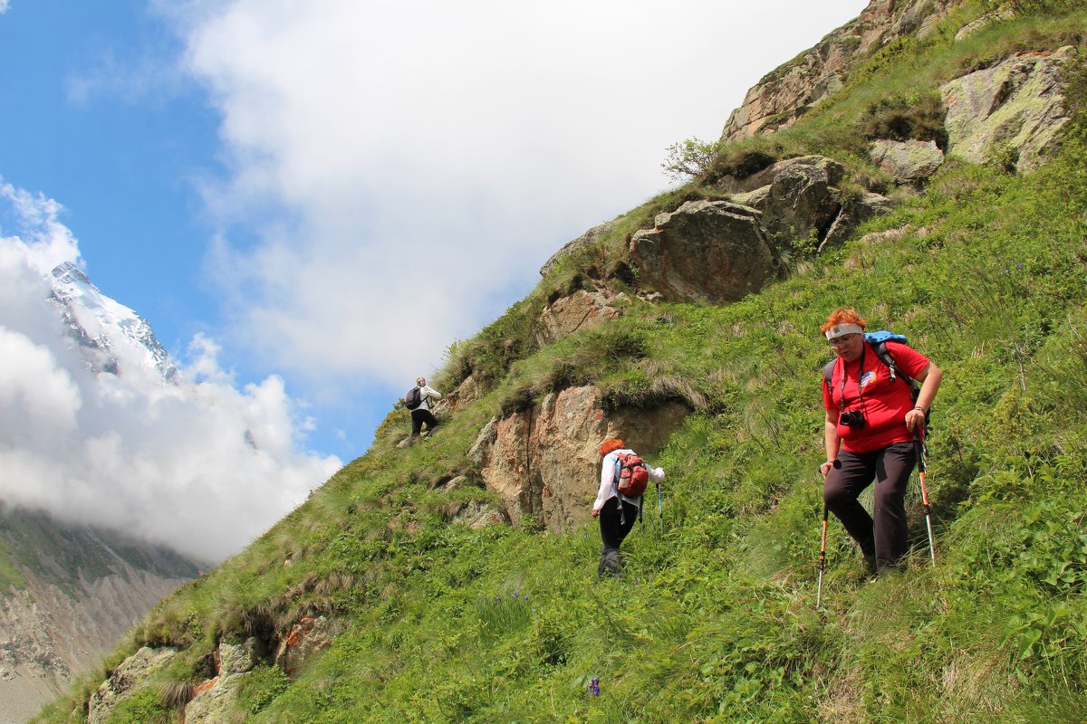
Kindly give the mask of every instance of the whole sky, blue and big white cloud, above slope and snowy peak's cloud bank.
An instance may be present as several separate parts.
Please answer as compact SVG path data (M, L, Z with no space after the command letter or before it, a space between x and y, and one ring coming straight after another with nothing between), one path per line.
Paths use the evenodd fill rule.
M299 450L346 461L554 251L665 189L671 143L865 5L0 0L0 179L63 206L183 365L210 342L238 390L282 379Z

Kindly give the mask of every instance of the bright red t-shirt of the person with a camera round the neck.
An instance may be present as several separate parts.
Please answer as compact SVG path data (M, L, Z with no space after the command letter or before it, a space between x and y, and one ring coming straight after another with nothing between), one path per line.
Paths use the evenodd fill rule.
M886 344L899 374L916 379L928 367L928 357L916 350L899 342ZM845 388L841 383L842 367L847 368ZM844 392L845 407L841 406ZM913 441L913 433L905 427L905 414L913 409L910 386L900 377L891 381L887 365L883 364L867 342L864 343L864 355L860 361L845 365L840 357L835 360L829 388L826 379L823 379L823 407L833 412L834 419L839 419L842 409L864 414L863 428L838 423L841 446L850 453L871 453L895 443Z

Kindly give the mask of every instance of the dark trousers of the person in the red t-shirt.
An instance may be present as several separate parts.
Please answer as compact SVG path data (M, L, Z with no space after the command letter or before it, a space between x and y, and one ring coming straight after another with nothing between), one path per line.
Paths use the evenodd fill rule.
M830 468L823 486L823 500L866 557L874 557L876 570L895 566L905 555L905 486L916 463L913 443L895 443L880 450L838 454L840 468ZM873 515L858 496L875 481Z

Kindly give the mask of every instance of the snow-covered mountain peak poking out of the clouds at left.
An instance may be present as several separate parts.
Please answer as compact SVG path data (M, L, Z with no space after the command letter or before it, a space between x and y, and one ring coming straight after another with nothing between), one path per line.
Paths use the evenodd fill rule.
M124 374L137 366L155 370L163 383L176 382L177 368L146 319L102 294L70 262L54 267L49 282L52 301L91 369Z

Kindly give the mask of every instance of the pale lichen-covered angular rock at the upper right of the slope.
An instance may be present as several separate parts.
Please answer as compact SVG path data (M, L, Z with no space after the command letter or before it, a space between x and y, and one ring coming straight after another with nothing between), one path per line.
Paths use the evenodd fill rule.
M1003 63L940 86L948 107L948 152L973 163L1010 152L1029 172L1053 150L1063 114L1060 68L1074 53L1019 53Z

